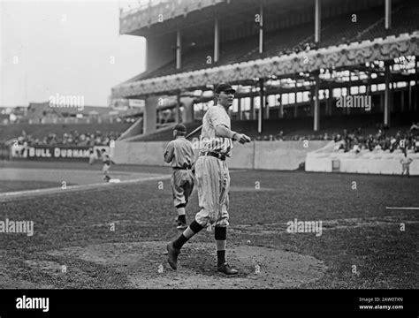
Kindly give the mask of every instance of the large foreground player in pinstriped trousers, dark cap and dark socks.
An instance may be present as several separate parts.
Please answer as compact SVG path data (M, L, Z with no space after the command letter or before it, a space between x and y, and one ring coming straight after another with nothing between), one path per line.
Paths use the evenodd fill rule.
M218 85L215 89L217 105L210 107L202 118L202 140L195 163L200 211L179 238L167 245L168 262L172 269L178 268L180 249L187 240L211 224L214 225L217 245L217 270L225 275L238 273L225 260L230 188L230 174L225 158L232 154L232 140L246 143L250 142L250 138L230 129L227 110L232 106L234 93L235 90L229 84Z

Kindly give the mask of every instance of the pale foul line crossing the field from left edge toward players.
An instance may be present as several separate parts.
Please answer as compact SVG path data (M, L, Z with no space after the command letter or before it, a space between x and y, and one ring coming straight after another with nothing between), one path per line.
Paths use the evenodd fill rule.
M90 184L90 185L67 186L65 189L62 189L61 187L54 187L54 188L46 188L46 189L35 189L35 190L16 191L16 192L10 192L10 193L0 193L0 202L19 200L19 199L24 199L27 197L46 195L46 194L73 193L73 192L87 191L87 190L100 190L101 188L105 188L109 186L128 185L128 184L133 184L133 183L141 183L141 182L153 181L153 180L165 180L165 179L170 179L170 178L171 178L171 175L169 176L162 175L162 176L149 177L149 178L137 178L137 179L132 179L132 180L124 180L118 183L97 183L97 184Z

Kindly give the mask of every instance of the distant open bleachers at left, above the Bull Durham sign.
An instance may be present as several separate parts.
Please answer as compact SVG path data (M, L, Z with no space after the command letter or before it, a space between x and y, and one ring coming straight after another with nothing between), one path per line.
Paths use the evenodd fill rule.
M132 125L132 118L141 117L141 109L113 110L108 107L50 106L50 102L30 102L28 107L9 108L8 120L0 125L0 143L25 140L31 145L47 145L47 139L62 142L65 138L78 143L83 135L116 140ZM9 120L10 114L15 120ZM54 138L52 138L54 136ZM82 137L82 138L84 138ZM79 140L81 142L81 140ZM102 144L102 141L101 141Z

